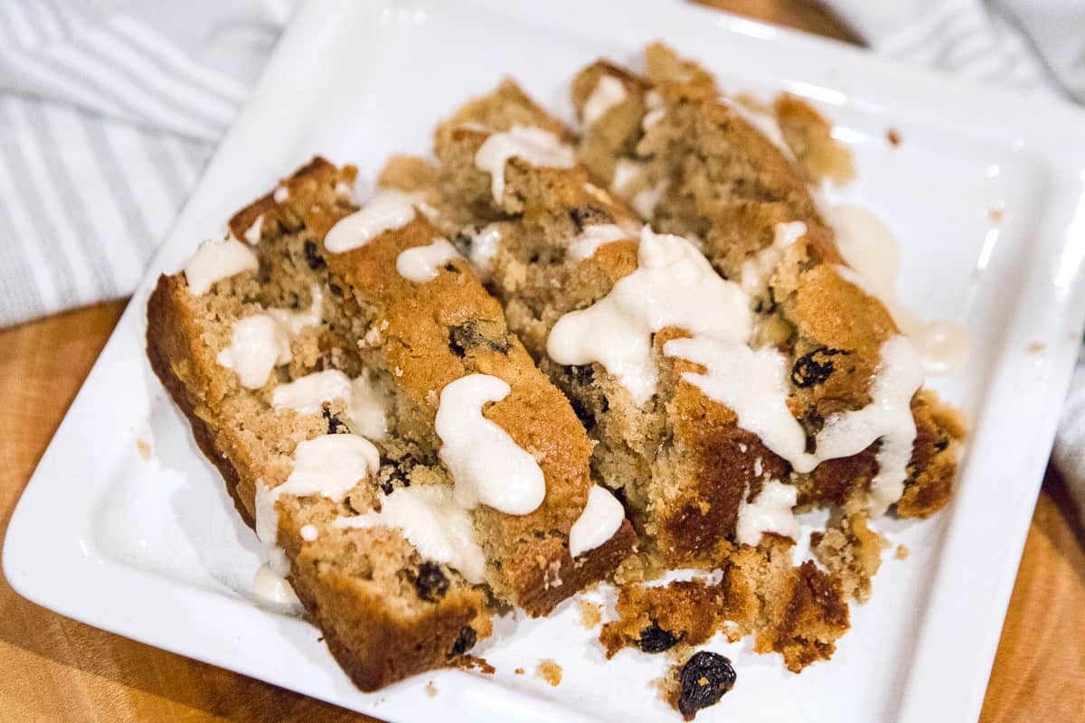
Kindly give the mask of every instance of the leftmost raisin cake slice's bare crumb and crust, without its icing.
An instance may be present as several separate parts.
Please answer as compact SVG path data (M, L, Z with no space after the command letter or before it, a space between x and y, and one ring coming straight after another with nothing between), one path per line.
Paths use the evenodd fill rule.
M151 366L250 526L259 521L259 490L290 478L301 444L371 434L372 424L350 418L343 399L304 412L272 404L277 386L309 374L367 374L356 340L328 321L340 312L323 263L314 254L310 228L315 216L349 208L353 180L353 169L315 160L284 180L275 197L260 198L231 220L233 235L247 235L254 243L253 268L218 279L206 289L191 288L184 273L163 275L148 304ZM246 387L218 357L230 347L237 322L269 312L288 321L311 313L302 321L312 323L293 325L297 333L289 335L289 363L266 370L263 382ZM272 501L278 525L270 543L284 552L293 590L362 690L456 664L492 630L484 589L427 559L398 530L335 525L341 517L372 512L382 481L447 483L435 459L419 457L408 467L381 456L379 468L339 499L315 493Z

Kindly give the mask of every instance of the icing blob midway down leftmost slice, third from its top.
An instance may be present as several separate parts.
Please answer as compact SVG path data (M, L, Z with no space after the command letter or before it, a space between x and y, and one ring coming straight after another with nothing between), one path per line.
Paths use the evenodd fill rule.
M271 405L292 409L302 414L319 412L324 402L342 399L352 426L367 439L383 439L385 425L384 399L362 374L350 379L339 370L314 372L271 390Z

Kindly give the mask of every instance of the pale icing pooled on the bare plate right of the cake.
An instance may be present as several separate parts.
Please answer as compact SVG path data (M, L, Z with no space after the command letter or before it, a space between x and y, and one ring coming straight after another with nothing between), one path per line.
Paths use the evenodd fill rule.
M893 321L919 350L923 370L944 374L959 369L968 358L968 328L955 321L924 322L897 298L899 246L893 233L865 208L837 206L829 211L837 247L848 267L841 276L879 299Z

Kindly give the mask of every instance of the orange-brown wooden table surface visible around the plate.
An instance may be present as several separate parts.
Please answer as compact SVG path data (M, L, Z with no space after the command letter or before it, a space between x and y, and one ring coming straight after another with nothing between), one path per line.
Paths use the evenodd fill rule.
M854 40L807 0L710 4ZM113 301L0 331L0 538L123 309L124 301ZM1077 519L1061 481L1049 474L1003 628L984 723L1085 720L1085 530ZM21 598L0 574L0 721L148 720L371 719L62 618Z

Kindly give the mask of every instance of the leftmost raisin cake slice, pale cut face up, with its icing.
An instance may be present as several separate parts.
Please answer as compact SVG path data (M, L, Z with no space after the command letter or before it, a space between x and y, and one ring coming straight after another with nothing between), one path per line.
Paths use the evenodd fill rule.
M229 238L161 276L146 348L272 553L276 570L261 568L256 585L278 582L280 599L296 591L350 679L375 690L460 661L490 634L490 612L470 517L444 502L446 473L435 459L409 467L382 459L387 392L354 340L326 321L337 312L307 221L348 212L353 179L349 168L314 162L235 216ZM395 499L442 511L427 539L339 525L373 515L379 486L393 479L411 487L386 506Z

